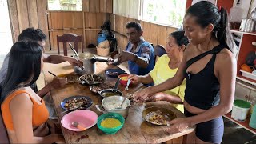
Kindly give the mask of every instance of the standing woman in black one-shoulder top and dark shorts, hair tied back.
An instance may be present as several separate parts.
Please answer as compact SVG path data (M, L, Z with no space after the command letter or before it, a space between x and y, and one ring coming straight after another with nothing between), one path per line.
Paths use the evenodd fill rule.
M173 78L134 94L134 101L179 86L186 78L184 114L170 122L169 131L182 131L196 125L197 143L221 143L222 115L230 112L234 101L236 59L226 10L206 1L186 11L185 35L190 41L182 63Z

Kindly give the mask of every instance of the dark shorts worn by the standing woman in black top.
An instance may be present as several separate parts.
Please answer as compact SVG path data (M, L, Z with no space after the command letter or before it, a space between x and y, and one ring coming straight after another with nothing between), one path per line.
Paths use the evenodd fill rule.
M186 117L197 114L191 114L184 109ZM198 123L195 129L196 136L204 142L221 143L224 134L224 122L222 117L214 118L207 122Z

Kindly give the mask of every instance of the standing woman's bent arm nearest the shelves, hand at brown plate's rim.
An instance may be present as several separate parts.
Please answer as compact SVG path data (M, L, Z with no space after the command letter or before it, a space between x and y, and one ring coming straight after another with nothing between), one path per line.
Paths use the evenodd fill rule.
M170 122L171 124L174 124L170 129L178 129L178 131L185 130L188 126L207 122L230 112L234 102L237 63L233 54L222 54L222 56L216 58L216 60L217 59L221 59L221 62L218 62L218 67L216 67L218 72L217 77L220 82L220 102L218 106L214 106L202 114L190 118L174 120Z

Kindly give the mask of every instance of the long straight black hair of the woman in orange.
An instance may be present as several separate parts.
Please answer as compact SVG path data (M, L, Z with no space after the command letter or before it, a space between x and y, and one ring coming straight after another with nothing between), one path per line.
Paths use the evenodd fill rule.
M31 86L41 72L42 48L37 42L16 42L10 49L10 58L6 79L0 86L0 102L12 90L22 86ZM28 84L21 85L23 82Z

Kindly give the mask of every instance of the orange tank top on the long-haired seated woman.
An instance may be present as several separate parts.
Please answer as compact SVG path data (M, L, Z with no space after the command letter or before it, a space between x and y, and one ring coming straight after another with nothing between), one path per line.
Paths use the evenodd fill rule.
M4 100L4 102L2 102L2 105L1 105L2 118L3 118L3 121L6 125L6 128L8 130L14 130L13 121L12 121L12 118L11 118L11 113L10 113L10 108L9 108L10 101L16 95L22 94L22 93L29 94L25 90L17 90L17 91L14 91L14 93L10 94ZM29 96L30 96L30 94L29 94ZM32 107L32 125L33 126L40 126L44 122L46 122L47 119L49 118L49 112L46 108L46 105L45 105L45 102L43 101L43 99L41 99L42 105L38 104L36 101L34 101L34 99L31 96L30 96L30 99L33 103L33 107Z

